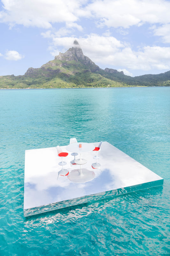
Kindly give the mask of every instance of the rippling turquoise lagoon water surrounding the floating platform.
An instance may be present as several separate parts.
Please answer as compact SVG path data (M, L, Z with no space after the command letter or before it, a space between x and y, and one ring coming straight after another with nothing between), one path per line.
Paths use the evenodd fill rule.
M0 255L170 255L170 88L0 90ZM23 216L26 149L108 141L164 185Z

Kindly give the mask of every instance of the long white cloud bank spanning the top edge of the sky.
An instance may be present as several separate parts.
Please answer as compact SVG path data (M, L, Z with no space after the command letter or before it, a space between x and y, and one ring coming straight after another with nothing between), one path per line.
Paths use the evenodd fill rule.
M66 22L67 26L82 29L76 22L79 18L91 18L98 26L114 28L148 22L170 23L170 1L168 0L2 0L4 10L0 20L11 26L22 24L51 28L53 23ZM70 25L68 25L70 24Z

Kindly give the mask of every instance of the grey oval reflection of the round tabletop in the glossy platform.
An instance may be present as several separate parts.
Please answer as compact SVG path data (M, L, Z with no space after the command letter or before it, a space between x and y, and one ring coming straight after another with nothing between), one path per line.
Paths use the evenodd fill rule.
M87 182L94 179L95 173L93 171L89 171L84 168L81 169L81 173L80 173L80 169L75 169L75 170L72 170L67 177L69 180L73 182L83 183L83 182Z

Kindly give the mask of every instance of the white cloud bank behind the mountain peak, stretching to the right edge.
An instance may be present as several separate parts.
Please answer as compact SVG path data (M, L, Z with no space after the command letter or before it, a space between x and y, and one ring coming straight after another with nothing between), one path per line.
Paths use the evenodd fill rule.
M90 34L87 37L55 37L49 32L45 35L51 37L51 54L58 55L59 46L63 47L63 52L73 45L75 39L78 40L84 55L88 56L99 67L114 66L121 70L152 70L170 69L170 47L144 46L138 51L117 40L113 36L99 36ZM124 71L123 71L124 72ZM132 75L127 73L127 75Z

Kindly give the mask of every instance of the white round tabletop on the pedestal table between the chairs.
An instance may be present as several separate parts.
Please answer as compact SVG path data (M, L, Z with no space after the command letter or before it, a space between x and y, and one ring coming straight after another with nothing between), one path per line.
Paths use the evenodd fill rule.
M82 145L81 148L79 148L79 144ZM81 142L81 143L72 143L69 144L68 146L66 146L66 149L70 152L75 152L75 153L85 153L85 152L90 152L93 151L93 149L95 148L95 146L91 143L85 143L85 142Z

